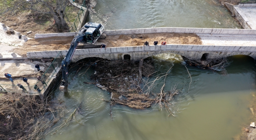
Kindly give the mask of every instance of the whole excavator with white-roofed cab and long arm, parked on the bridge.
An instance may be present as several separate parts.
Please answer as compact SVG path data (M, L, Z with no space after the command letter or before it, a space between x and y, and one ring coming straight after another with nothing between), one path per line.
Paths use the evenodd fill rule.
M68 65L71 62L71 58L76 50L76 47L80 42L86 42L88 44L95 44L96 41L106 38L106 34L103 33L104 26L99 23L87 22L78 31L77 36L74 37L70 44L70 48L65 58L62 60L62 85L60 86L60 91L68 91Z

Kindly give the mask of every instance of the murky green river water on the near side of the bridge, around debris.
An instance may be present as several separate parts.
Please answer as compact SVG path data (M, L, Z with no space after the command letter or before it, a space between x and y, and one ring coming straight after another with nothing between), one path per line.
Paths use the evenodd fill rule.
M64 126L59 133L46 136L47 140L232 140L241 132L242 125L250 124L250 102L255 100L255 63L248 56L234 56L226 68L228 75L210 70L188 67L190 78L180 60L171 54L154 56L154 66L159 72L172 70L166 78L165 90L174 84L182 92L170 102L170 110L176 116L168 116L165 108L157 104L145 110L125 106L112 106L101 99L109 100L110 94L92 84L93 69L81 76L70 74L69 94L56 92L69 112L66 118L81 104L75 120ZM77 75L79 75L77 74ZM72 80L74 78L74 80ZM159 81L160 83L161 81ZM162 84L156 87L160 89ZM158 90L159 91L159 90ZM187 92L188 91L188 92ZM253 96L254 95L254 96ZM62 123L62 122L61 122ZM55 126L58 126L56 124Z

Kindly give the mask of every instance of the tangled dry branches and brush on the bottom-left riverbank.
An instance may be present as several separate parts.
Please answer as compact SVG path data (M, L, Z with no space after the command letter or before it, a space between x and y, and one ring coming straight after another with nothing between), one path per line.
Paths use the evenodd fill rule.
M47 98L40 100L38 96L2 94L0 139L40 140L48 132L47 128L58 122L59 118L54 115L62 111L62 106L50 106Z

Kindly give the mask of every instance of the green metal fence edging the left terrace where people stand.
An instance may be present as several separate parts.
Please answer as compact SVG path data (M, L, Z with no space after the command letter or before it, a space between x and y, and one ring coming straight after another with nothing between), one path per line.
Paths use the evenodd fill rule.
M52 79L52 76L57 72L57 69L61 66L61 62L64 59L63 55L61 52L58 53L58 55L55 57L55 59L51 62L50 66L47 68L44 73L39 72L41 76L41 80L38 81L36 84L38 88L41 90L41 92L44 92L44 88L47 88L48 84L50 84L50 80ZM22 92L22 93L30 93L30 94L35 94L39 93L38 90L34 89L33 85L28 85L28 86L23 86L24 88L20 88L20 86L16 84L0 84L0 92Z

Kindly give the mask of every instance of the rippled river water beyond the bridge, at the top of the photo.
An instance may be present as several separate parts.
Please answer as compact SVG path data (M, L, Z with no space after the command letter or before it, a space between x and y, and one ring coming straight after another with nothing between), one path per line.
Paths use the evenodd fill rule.
M97 0L87 21L102 23L106 30L240 28L218 0Z

